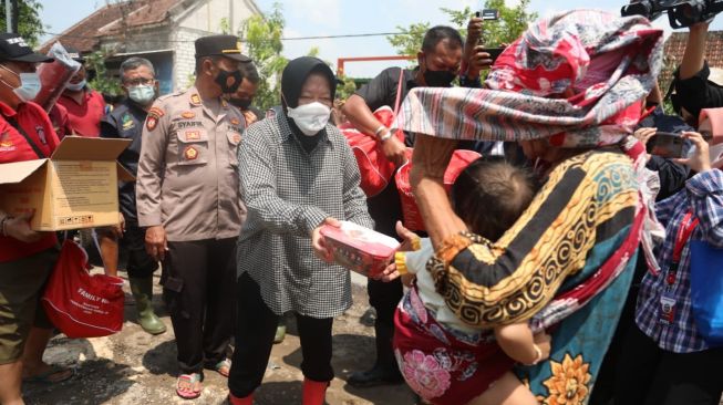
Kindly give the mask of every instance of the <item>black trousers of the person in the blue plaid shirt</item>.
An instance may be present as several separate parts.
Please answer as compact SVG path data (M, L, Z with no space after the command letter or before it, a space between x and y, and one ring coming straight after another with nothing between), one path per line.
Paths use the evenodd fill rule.
M672 353L630 328L616 370L616 405L717 405L723 347Z

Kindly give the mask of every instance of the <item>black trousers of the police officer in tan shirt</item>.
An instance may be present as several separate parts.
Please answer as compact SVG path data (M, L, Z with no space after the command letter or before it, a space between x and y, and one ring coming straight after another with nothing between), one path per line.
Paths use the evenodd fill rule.
M183 374L226 359L236 307L236 238L168 242L161 283Z

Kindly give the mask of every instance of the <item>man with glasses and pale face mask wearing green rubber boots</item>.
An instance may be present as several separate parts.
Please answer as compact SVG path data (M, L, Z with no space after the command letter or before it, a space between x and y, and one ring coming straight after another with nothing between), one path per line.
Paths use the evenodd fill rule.
M158 82L151 61L130 58L121 63L121 83L126 98L101 121L101 137L133 141L118 162L135 176L143 123L158 94ZM97 230L105 272L117 274L118 251L123 252L122 257L127 257L126 271L138 324L147 333L159 334L166 331L166 325L153 312L152 304L153 272L158 268L158 262L145 250L145 232L138 227L135 207L135 183L121 184L118 200L124 229L113 227Z

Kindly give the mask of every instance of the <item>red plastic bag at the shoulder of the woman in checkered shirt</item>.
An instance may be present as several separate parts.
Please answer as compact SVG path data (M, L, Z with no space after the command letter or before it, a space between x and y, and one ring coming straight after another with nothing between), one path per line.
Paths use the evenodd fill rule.
M388 106L376 110L374 116L386 127L392 127L394 123L394 112ZM392 178L396 167L386 159L381 144L374 136L360 132L351 124L342 125L339 129L347 137L349 146L354 153L361 173L361 188L366 197L382 193L389 185L389 179ZM404 132L401 129L397 129L394 136L404 142Z

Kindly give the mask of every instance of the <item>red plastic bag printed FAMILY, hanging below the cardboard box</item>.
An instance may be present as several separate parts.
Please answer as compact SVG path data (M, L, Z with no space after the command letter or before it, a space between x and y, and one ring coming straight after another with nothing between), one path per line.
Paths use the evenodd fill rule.
M42 298L48 318L68 338L99 338L123 328L123 279L87 272L87 253L65 240Z

